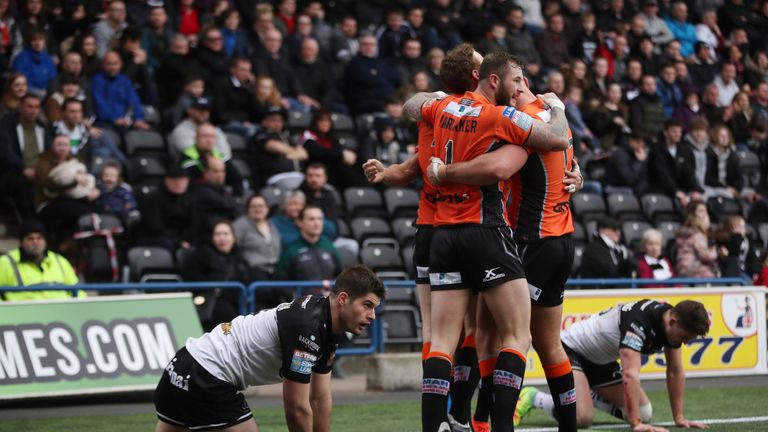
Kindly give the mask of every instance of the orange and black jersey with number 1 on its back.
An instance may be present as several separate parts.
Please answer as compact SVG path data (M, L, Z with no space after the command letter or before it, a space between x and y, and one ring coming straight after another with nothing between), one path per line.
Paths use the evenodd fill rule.
M429 101L421 109L433 125L434 155L446 164L472 160L504 144L525 144L533 119L511 106L495 106L467 92ZM510 181L488 186L448 183L437 187L435 226L472 224L507 226Z

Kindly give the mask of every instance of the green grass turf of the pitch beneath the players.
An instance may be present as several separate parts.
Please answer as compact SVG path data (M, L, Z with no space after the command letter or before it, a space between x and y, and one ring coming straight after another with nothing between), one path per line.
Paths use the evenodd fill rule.
M653 402L654 420L672 420L667 393L649 392ZM755 417L766 415L768 391L763 388L689 389L686 393L686 416L689 419L715 419ZM286 431L281 409L255 408L254 415L262 432ZM337 405L333 410L333 432L417 432L420 430L418 403L382 403ZM603 413L597 413L597 424L621 422ZM0 431L67 432L110 431L133 432L154 430L153 413L110 416L80 416L41 420L0 420ZM534 410L518 430L555 426L554 420L541 410ZM674 428L671 428L674 429ZM627 430L627 429L624 429ZM713 424L711 431L766 431L768 422Z

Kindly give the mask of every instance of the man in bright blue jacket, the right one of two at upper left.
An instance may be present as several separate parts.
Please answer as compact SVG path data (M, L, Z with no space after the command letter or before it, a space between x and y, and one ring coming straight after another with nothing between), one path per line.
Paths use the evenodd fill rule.
M91 80L96 119L117 129L149 129L149 124L144 121L144 108L133 83L120 73L122 66L120 54L108 51L104 55L102 70Z

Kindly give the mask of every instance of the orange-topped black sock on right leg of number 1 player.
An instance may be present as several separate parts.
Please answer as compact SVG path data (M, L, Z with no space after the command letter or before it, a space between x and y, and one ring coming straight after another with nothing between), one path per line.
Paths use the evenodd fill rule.
M514 431L512 416L523 387L526 358L519 351L505 348L496 360L493 371L493 409L491 425L494 432Z

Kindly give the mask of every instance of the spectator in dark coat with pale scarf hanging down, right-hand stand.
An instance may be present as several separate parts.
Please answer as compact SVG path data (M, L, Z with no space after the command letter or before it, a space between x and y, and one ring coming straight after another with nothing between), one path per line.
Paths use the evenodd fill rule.
M707 196L739 199L744 179L739 170L739 157L731 131L725 125L712 128L712 146L707 150L707 174L704 178Z

